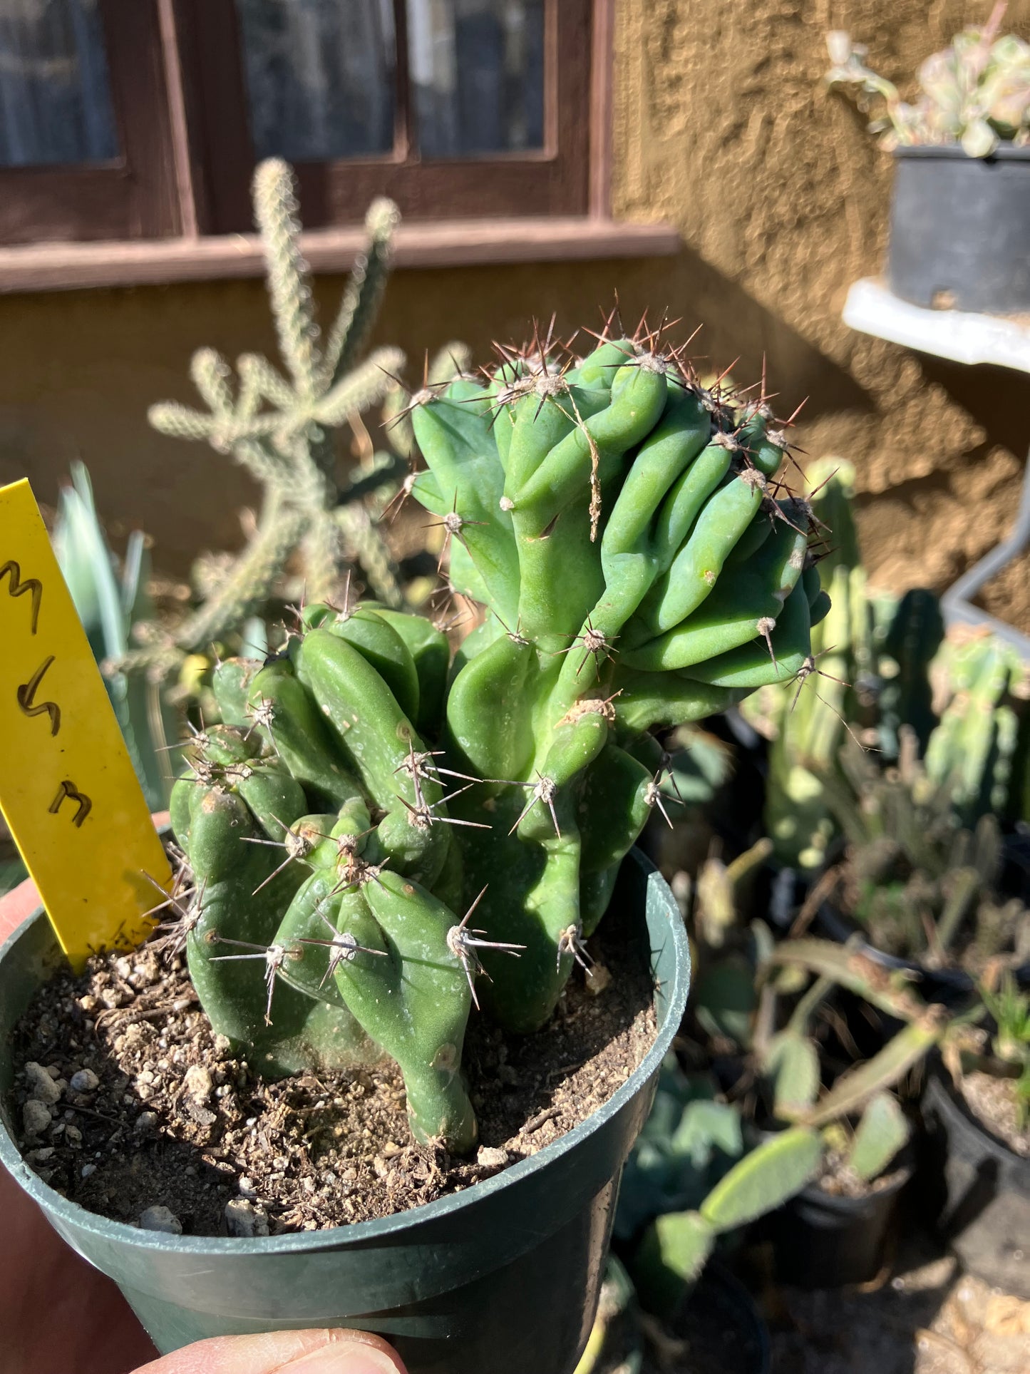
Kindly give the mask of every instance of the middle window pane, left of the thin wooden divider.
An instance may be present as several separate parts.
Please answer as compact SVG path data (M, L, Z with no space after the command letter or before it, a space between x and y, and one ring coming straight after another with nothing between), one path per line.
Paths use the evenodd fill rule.
M393 148L393 0L236 0L258 158Z

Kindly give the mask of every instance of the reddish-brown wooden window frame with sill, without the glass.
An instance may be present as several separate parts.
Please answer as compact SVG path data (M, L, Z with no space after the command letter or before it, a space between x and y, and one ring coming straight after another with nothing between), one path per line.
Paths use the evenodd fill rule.
M100 7L125 155L117 165L0 170L0 205L23 196L23 209L12 212L21 214L15 232L33 228L33 242L0 246L0 293L261 275L233 0L100 0ZM545 0L545 147L483 158L422 161L413 151L398 26L404 95L393 153L297 166L312 267L350 267L365 206L382 194L404 217L398 267L677 251L669 225L617 224L610 216L614 8L615 0ZM129 48L110 44L128 44L129 33L147 44L150 60L139 60L139 48L135 65L119 60ZM581 51L585 60L559 63L559 51ZM144 96L161 113L141 132L128 111ZM67 234L73 209L91 214L96 206L98 218L80 223L77 240L52 242ZM445 217L434 213L438 206Z

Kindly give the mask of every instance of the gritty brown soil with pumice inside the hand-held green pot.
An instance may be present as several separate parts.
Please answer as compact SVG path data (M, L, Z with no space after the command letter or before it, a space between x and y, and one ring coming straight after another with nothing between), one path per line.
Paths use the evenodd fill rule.
M22 1017L10 1105L25 1158L91 1212L174 1235L320 1230L459 1191L584 1121L651 1046L647 963L608 921L593 977L577 970L537 1035L470 1022L470 1158L412 1143L391 1061L262 1080L211 1032L184 958L154 944L58 973Z

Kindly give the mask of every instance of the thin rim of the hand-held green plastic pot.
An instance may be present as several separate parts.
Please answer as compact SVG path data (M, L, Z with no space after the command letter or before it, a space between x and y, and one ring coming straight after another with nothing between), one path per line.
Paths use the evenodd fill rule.
M661 872L639 849L633 848L628 857L640 867L644 883L652 877L663 882ZM670 912L676 904L670 894ZM643 914L643 903L641 903ZM47 914L40 905L0 944L0 965L10 955L18 940L38 921L47 921ZM504 1189L514 1187L529 1173L545 1168L552 1160L560 1158L570 1150L575 1150L582 1142L600 1129L611 1117L626 1106L648 1083L652 1074L658 1073L662 1059L669 1052L673 1036L680 1028L683 1013L687 1006L687 995L691 981L691 954L687 938L687 927L683 921L670 919L670 936L677 958L674 959L674 976L666 996L666 1013L662 1025L650 1050L630 1073L626 1081L613 1092L604 1106L593 1112L585 1121L581 1121L571 1131L545 1145L542 1150L508 1165L500 1173L489 1179L474 1183L460 1193L452 1193L437 1198L434 1202L423 1202L420 1206L408 1208L405 1212L396 1212L391 1216L376 1217L369 1221L354 1221L349 1226L327 1227L320 1231L298 1231L287 1235L269 1235L254 1238L218 1237L218 1235L169 1235L163 1231L147 1231L128 1221L115 1221L89 1212L78 1202L63 1197L56 1190L44 1183L36 1172L25 1162L21 1150L14 1142L5 1123L0 1117L0 1165L11 1173L14 1180L22 1187L34 1202L37 1202L48 1217L56 1217L77 1231L88 1231L98 1238L119 1241L122 1243L140 1246L143 1249L161 1250L162 1253L177 1253L184 1256L240 1256L240 1254L283 1254L309 1253L317 1250L335 1250L343 1245L360 1246L363 1242L380 1241L387 1237L431 1221L450 1213L461 1212L474 1206L478 1201Z

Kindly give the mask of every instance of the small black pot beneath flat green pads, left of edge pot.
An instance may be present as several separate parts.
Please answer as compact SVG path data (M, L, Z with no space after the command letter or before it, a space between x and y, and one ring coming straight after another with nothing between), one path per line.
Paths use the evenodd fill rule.
M883 1268L894 1235L901 1191L912 1176L895 1178L861 1198L836 1197L809 1183L766 1217L776 1278L801 1289L868 1283Z

